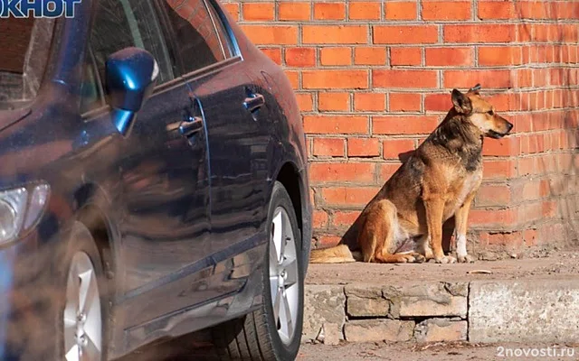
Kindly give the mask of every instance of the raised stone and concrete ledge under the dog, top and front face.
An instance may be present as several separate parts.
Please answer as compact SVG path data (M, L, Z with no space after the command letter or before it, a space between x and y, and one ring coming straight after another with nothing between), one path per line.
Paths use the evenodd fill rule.
M310 264L306 283L304 342L579 342L579 252L475 264Z

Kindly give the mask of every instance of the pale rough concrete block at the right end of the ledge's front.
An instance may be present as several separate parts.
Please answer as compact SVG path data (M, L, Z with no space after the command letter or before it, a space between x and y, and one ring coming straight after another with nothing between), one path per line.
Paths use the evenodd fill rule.
M470 282L471 342L579 342L579 277Z

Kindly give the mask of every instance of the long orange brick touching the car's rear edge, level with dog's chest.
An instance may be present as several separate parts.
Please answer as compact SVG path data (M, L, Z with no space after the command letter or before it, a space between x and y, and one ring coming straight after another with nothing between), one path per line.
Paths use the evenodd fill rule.
M319 182L373 182L374 163L311 163L309 178L312 183Z

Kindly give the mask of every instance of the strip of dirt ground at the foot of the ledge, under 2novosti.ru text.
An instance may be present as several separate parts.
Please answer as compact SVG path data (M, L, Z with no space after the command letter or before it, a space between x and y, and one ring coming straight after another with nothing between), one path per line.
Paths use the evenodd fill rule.
M384 342L342 344L339 346L307 344L302 345L299 349L297 361L476 361L501 359L575 360L579 359L579 345L473 345L466 342L427 345L386 344Z

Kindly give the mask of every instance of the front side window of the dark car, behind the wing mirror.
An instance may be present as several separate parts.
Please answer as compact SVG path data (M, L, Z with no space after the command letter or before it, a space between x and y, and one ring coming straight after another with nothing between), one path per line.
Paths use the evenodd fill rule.
M100 104L109 55L128 47L149 51L157 60L157 85L175 79L174 66L151 0L100 0L92 25L81 86L81 113ZM97 72L91 64L96 65Z

